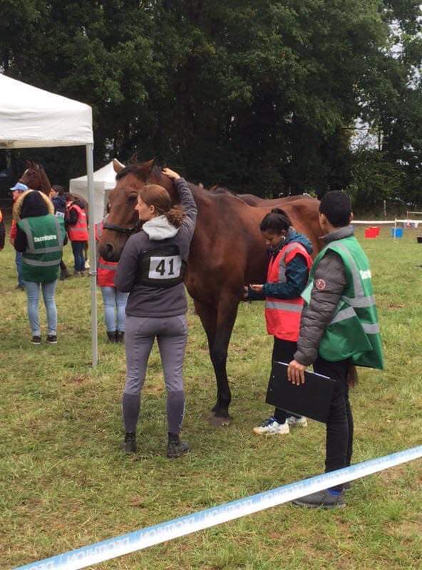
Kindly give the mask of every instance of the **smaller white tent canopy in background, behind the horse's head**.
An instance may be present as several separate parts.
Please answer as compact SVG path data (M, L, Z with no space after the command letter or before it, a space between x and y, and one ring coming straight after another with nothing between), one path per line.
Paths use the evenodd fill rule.
M115 170L113 160L94 172L94 207L90 210L90 219L93 211L94 224L101 222L105 215L105 206L110 190L115 187ZM88 199L88 176L80 176L69 180L69 192L79 194Z

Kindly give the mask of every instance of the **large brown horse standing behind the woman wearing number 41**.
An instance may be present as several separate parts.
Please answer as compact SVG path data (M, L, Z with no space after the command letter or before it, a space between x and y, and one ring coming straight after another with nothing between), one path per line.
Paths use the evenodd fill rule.
M153 160L128 167L115 163L114 167L120 175L110 192L107 227L99 242L101 256L108 261L118 261L128 237L140 227L134 207L145 184L165 187L173 202L177 202L172 180L154 166ZM250 283L264 283L266 279L267 251L259 223L270 208L251 207L235 196L188 185L198 215L185 285L207 335L217 380L217 403L209 419L218 427L232 421L227 350L243 288ZM321 248L319 202L303 198L293 202L279 200L278 204L289 214L295 229L307 234L316 254Z

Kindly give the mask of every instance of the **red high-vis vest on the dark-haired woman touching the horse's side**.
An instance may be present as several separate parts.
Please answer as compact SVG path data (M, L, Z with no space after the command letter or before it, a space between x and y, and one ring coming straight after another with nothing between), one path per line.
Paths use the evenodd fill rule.
M302 244L290 242L280 249L276 257L269 261L267 283L286 283L286 266L296 255L304 257L309 271L312 266L312 257ZM267 321L268 334L281 338L283 341L297 342L303 306L302 297L297 299L267 297L265 320Z

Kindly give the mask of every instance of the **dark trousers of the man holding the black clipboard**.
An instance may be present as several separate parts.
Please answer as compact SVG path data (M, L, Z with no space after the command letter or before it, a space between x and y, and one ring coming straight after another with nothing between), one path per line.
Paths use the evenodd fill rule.
M314 372L336 380L326 423L326 472L348 467L351 461L353 417L349 403L349 386L347 385L349 366L349 359L329 362L318 356L314 362Z

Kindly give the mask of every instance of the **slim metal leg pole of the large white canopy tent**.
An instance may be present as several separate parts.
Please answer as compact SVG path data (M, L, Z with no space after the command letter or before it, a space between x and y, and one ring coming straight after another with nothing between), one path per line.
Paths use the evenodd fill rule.
M88 177L88 207L89 207L89 249L91 279L91 346L92 365L98 364L98 336L97 336L97 260L96 239L94 234L94 160L92 143L86 145L86 172Z

